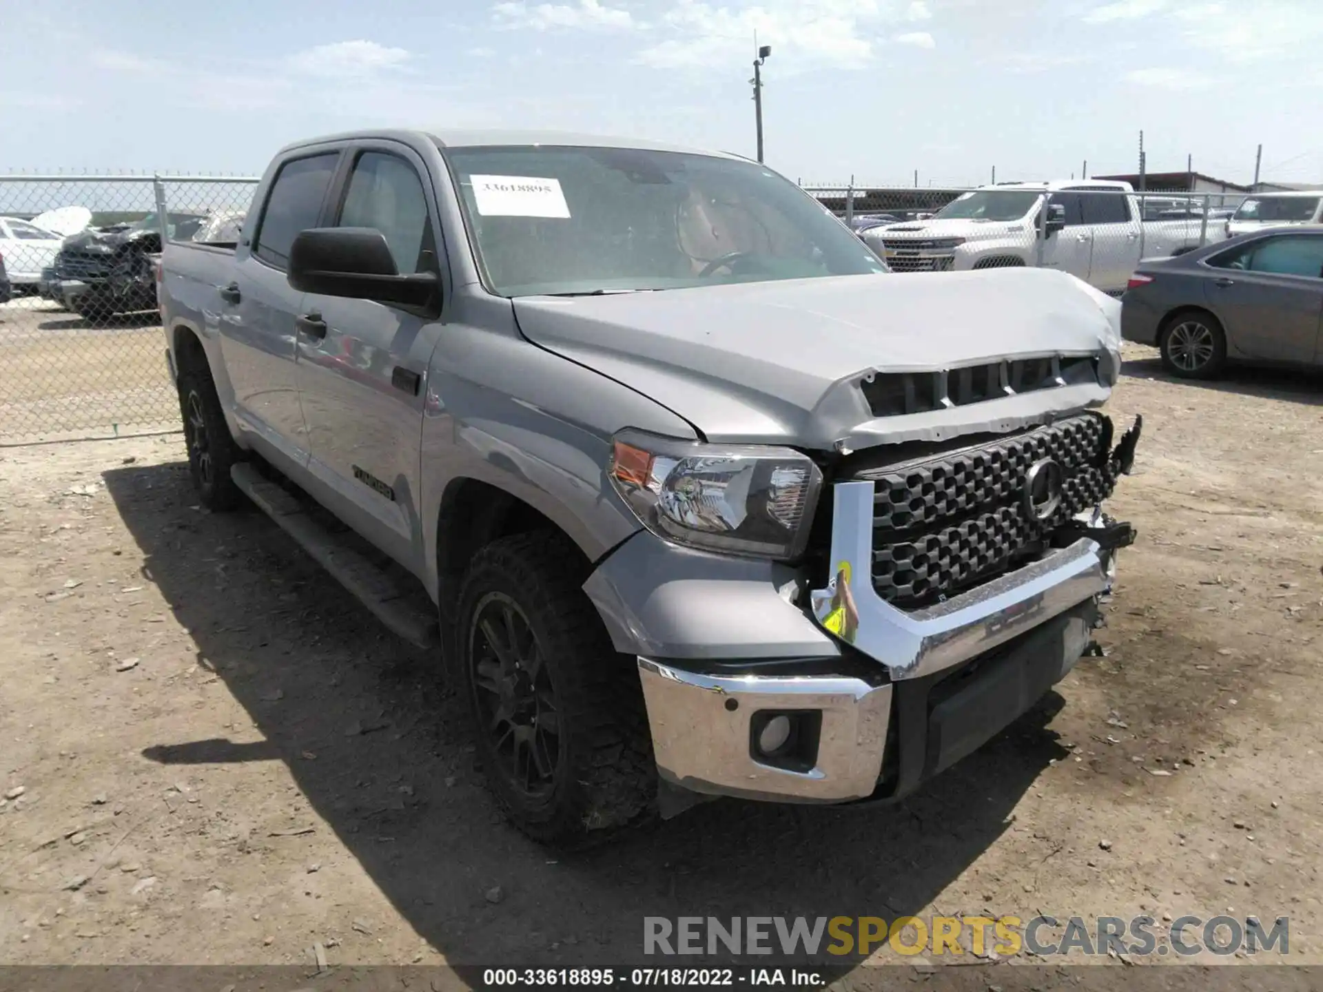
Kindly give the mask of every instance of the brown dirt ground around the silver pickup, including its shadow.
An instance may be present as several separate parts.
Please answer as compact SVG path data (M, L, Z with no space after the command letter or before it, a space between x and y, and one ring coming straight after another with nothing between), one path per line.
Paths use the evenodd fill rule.
M1323 962L1323 382L1134 349L1134 411L1106 656L1044 706L898 807L720 802L561 857L431 659L200 511L177 435L0 450L0 962L602 964L644 914L1040 911L1287 915Z

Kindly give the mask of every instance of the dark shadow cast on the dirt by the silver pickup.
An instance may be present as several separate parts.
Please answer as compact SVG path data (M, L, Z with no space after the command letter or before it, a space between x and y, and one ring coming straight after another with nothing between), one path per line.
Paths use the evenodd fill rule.
M198 664L265 737L235 743L202 733L144 755L284 762L325 827L451 963L659 964L642 960L644 915L894 918L934 902L942 913L979 910L982 895L943 890L1009 828L1048 762L1068 754L1045 729L1061 702L1049 694L900 806L721 800L557 856L500 817L439 665L381 630L269 520L251 509L200 512L181 463L116 468L105 480L144 577L191 631ZM287 804L278 812L287 820ZM273 844L267 829L251 829L251 844L277 858L263 847ZM499 905L484 897L493 886Z

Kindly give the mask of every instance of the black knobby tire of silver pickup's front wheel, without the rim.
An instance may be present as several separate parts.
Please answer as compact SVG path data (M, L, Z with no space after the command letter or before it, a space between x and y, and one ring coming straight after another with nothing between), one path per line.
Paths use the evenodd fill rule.
M533 840L558 848L599 843L651 819L656 765L634 659L618 653L582 583L589 563L554 530L504 537L472 559L459 595L451 684L468 716L487 782L507 817ZM488 659L480 604L512 602L536 639L557 712L557 758L546 792L517 783L497 753L478 686ZM475 656L476 655L476 656Z

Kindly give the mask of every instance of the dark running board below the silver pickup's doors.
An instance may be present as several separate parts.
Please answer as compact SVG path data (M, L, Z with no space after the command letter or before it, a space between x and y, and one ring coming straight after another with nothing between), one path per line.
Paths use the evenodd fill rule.
M435 607L419 595L417 579L397 578L376 565L355 546L361 538L352 530L332 533L308 513L304 503L265 479L251 464L239 462L233 466L230 477L258 509L363 600L390 631L419 648L434 649L441 644ZM426 607L419 600L426 602Z

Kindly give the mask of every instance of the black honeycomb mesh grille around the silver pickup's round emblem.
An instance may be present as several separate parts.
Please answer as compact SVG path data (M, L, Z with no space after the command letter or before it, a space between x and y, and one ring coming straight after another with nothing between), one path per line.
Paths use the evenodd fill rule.
M896 606L923 606L990 578L1050 532L1111 495L1110 423L1085 414L950 454L860 471L872 480L873 587ZM1053 459L1061 501L1044 521L1023 505L1029 468Z

